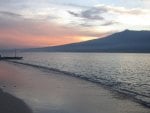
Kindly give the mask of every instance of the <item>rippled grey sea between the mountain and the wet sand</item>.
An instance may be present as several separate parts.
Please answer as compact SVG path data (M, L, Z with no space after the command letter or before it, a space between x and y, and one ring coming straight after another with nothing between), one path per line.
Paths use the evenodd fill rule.
M23 63L63 71L150 104L150 54L21 53Z

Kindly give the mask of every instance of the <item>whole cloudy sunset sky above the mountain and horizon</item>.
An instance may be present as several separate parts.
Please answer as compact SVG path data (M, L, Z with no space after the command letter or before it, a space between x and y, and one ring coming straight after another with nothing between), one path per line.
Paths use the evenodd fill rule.
M150 30L150 0L0 0L0 48L45 47Z

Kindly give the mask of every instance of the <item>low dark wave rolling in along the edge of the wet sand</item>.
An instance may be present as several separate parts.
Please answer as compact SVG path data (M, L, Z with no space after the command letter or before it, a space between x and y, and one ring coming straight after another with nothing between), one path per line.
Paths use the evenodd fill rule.
M110 87L114 91L117 91L119 93L126 94L126 95L132 97L136 102L150 108L150 95L140 94L138 92L131 91L128 88L119 87L120 85L123 84L121 82L115 82L115 81L110 82L110 80L100 78L100 77L97 77L97 76L88 77L88 76L84 76L84 75L80 75L80 74L75 74L75 73L71 73L71 72L67 72L67 71L62 71L62 70L59 70L59 69L56 69L56 68L50 68L50 67L31 64L31 63L26 63L26 62L18 62L18 61L10 61L10 62L17 63L17 64L22 64L22 65L26 65L26 66L31 66L31 67L35 67L35 68L41 68L41 69L46 69L46 70L50 70L50 71L60 72L60 73L63 73L65 75L68 75L68 76L78 77L78 78L84 79L86 81L90 81L90 82L98 83L98 84L101 84L101 85L105 85L105 86Z

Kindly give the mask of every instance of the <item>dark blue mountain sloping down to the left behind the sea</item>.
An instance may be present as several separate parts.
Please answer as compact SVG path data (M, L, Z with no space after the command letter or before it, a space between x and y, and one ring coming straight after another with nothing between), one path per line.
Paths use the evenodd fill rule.
M114 33L80 43L30 49L49 52L150 52L150 31L130 31Z

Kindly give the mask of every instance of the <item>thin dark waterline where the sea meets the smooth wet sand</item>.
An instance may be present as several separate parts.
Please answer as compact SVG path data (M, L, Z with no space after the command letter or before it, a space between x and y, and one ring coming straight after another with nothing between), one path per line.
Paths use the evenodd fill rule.
M36 68L36 69L44 69L44 70L48 70L48 71L54 71L54 72L58 72L58 73L60 73L60 74L64 74L65 76L75 77L75 78L77 78L77 79L81 79L81 80L85 80L85 81L88 81L88 82L91 82L91 83L94 83L94 84L98 84L100 87L103 87L103 88L105 88L106 90L110 90L110 91L112 91L113 93L116 93L117 95L123 95L123 96L129 98L130 100L132 100L132 101L134 101L134 102L136 102L136 103L141 104L141 105L144 106L144 107L150 108L150 103L149 103L149 102L146 102L146 101L143 101L143 100L141 100L141 99L135 98L135 97L134 97L134 95L135 95L134 92L131 92L130 94L127 93L127 92L121 92L120 90L112 89L109 85L102 84L102 83L100 83L100 82L98 82L98 81L93 81L93 80L90 79L90 78L86 78L86 77L81 76L81 75L75 75L75 74L73 74L73 73L61 71L61 70L54 69L54 68L49 68L49 67L45 67L45 66L39 66L39 65L30 64L30 63L24 63L24 62L17 62L17 61L8 61L8 62L14 63L14 64L20 64L20 65L30 66L30 67L33 67L33 68ZM140 95L139 95L139 96L140 96Z

